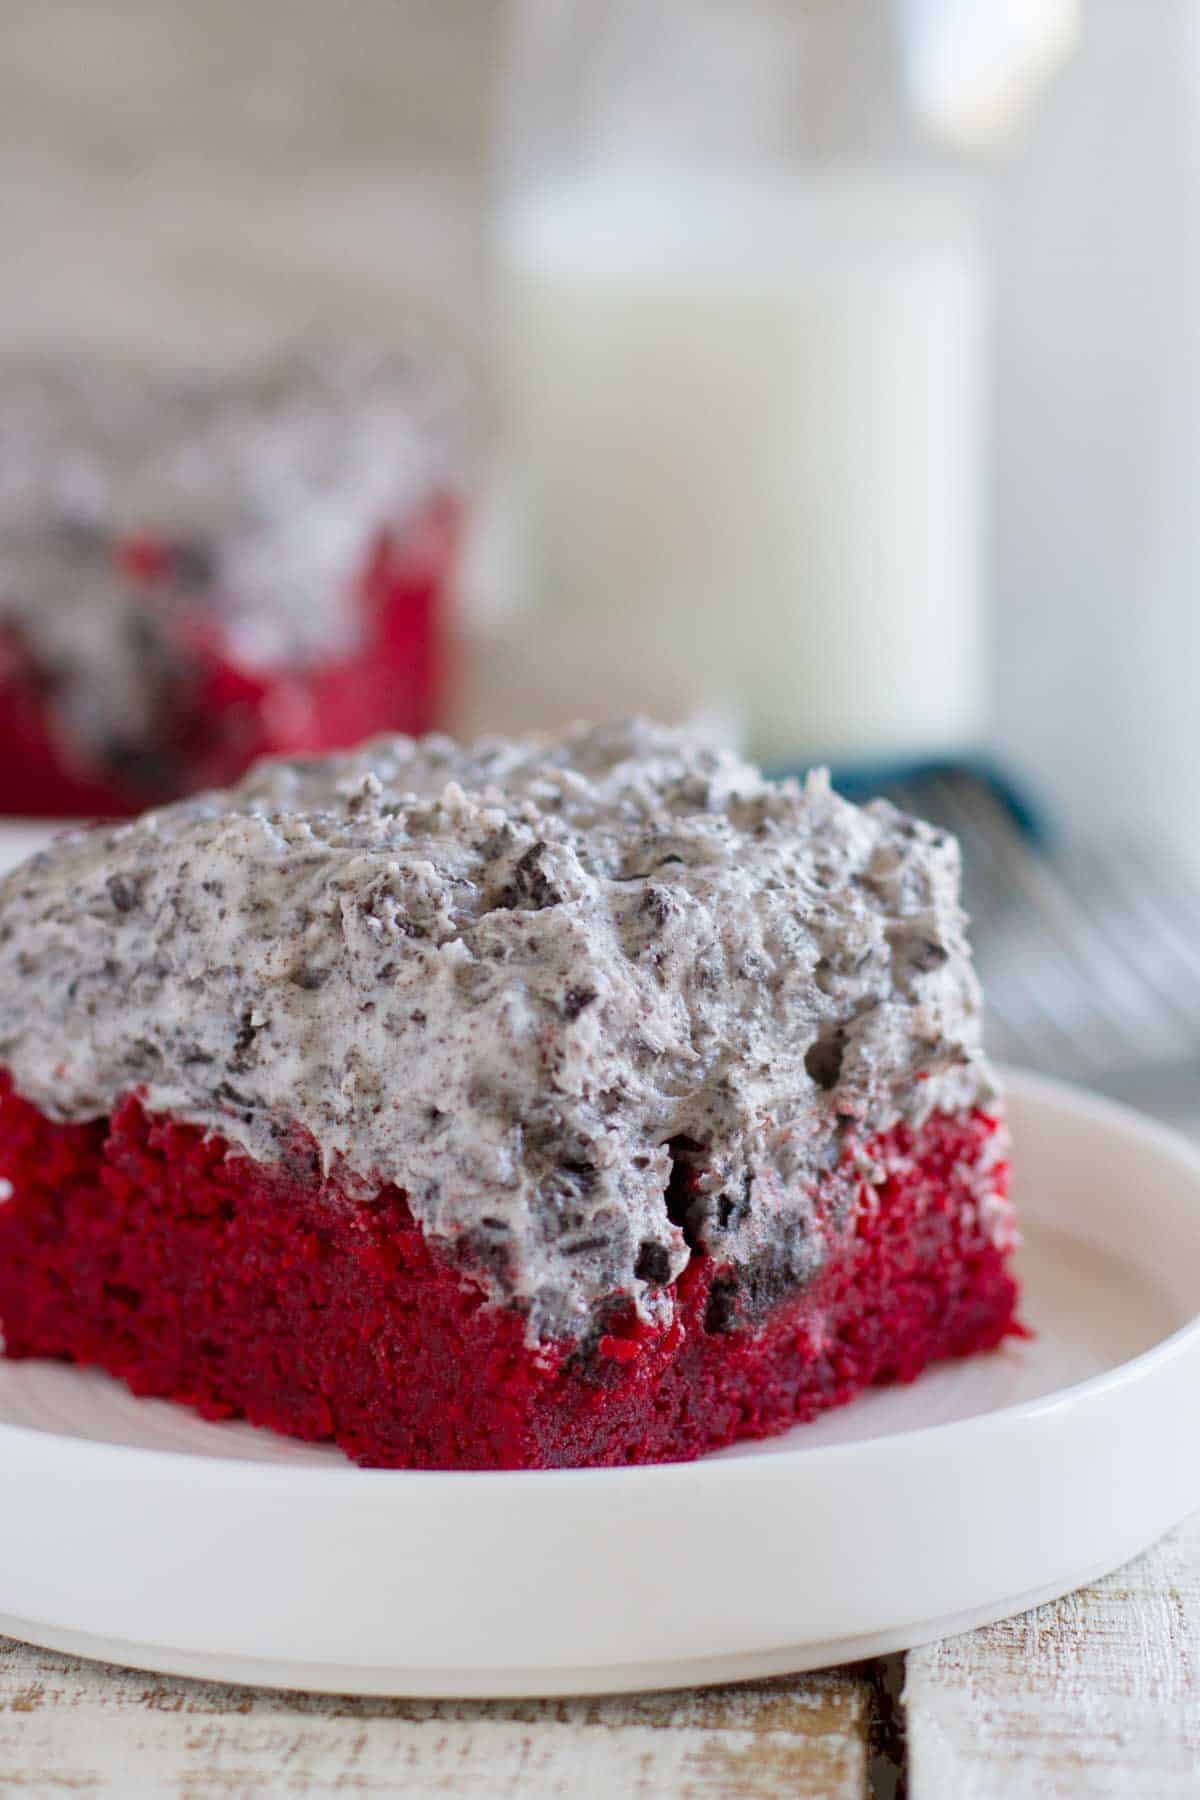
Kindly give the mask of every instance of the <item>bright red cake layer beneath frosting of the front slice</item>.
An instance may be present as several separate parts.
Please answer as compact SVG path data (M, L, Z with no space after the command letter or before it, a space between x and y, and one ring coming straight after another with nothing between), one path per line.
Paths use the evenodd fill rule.
M9 1357L94 1364L363 1465L687 1460L1020 1332L1009 1244L973 1197L995 1130L984 1112L934 1114L876 1138L887 1177L860 1186L842 1247L761 1321L694 1253L669 1328L617 1305L590 1346L533 1348L399 1188L353 1199L315 1152L266 1168L137 1098L59 1125L4 1082L0 1328ZM1006 1181L991 1168L988 1190Z

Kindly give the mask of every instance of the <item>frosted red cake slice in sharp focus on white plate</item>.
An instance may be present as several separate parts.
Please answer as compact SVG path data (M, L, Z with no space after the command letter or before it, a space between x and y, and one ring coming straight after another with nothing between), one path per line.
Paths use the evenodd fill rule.
M658 727L61 839L0 1064L7 1354L363 1463L696 1456L1015 1330L954 841Z

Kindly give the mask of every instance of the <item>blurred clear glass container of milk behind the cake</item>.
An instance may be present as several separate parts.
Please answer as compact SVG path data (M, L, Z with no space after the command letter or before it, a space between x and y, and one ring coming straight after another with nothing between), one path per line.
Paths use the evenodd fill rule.
M954 5L518 5L518 608L486 722L707 713L766 763L979 740L990 283L930 40Z

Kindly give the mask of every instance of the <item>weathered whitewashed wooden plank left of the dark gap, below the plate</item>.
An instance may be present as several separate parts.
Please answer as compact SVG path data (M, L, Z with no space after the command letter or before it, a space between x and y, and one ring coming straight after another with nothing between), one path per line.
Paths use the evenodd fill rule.
M353 1699L166 1679L0 1638L4 1800L865 1800L869 1721L853 1670L592 1701Z

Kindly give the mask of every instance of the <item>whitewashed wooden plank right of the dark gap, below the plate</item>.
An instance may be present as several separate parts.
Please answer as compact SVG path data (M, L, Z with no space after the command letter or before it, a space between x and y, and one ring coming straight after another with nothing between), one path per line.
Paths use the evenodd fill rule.
M910 1800L1195 1800L1200 1514L1092 1588L912 1651L905 1708Z

